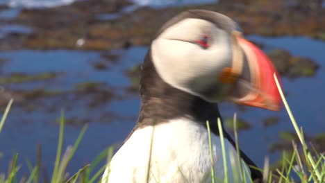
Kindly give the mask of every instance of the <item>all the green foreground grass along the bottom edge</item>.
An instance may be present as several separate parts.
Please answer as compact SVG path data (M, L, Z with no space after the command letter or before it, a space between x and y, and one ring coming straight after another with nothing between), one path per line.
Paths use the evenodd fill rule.
M278 80L276 76L274 76L274 79L276 80L276 84L278 85ZM304 136L303 136L303 130L302 128L299 128L299 125L297 125L297 121L294 119L294 116L290 110L290 107L288 105L288 102L286 101L283 92L281 90L280 85L278 85L279 92L281 94L281 98L283 100L283 103L285 105L285 108L288 112L288 115L290 116L290 120L292 121L292 125L294 127L294 130L297 133L297 136L299 137L299 144L296 144L296 142L292 142L292 148L293 152L292 154L284 153L283 160L281 163L281 166L278 168L272 169L272 167L269 166L269 159L265 158L265 166L263 167L263 182L325 182L325 156L323 153L317 153L315 150L310 149L308 144L306 143ZM12 105L12 100L8 103L8 106L6 107L5 112L3 113L2 119L0 121L0 132L3 129L3 124L5 123L5 120L8 116L8 112L10 110L10 106ZM239 142L238 142L238 134L237 134L237 116L234 115L234 132L235 132L235 142L236 146L235 149L237 152L239 152ZM215 121L210 121L210 123L216 123ZM217 125L219 127L219 134L220 137L223 137L224 132L222 131L221 121L217 121ZM56 161L54 162L53 167L53 173L51 175L51 180L48 180L48 182L51 183L60 183L60 182L98 182L101 180L101 175L103 174L103 171L106 167L110 166L110 159L113 157L113 150L115 147L107 148L106 150L103 150L99 154L99 156L94 159L94 161L84 167L81 167L76 173L74 173L72 176L67 177L67 166L69 165L70 160L74 157L75 153L78 153L78 144L81 142L81 139L83 138L83 135L85 133L85 130L87 127L85 126L81 133L78 135L78 138L76 139L76 142L73 146L68 146L63 153L63 134L64 134L64 126L65 126L65 118L62 114L60 117L60 130L59 130L59 138L58 138L58 148L56 153ZM211 153L211 162L214 161L212 152L212 143L210 138L210 125L209 121L207 121L207 128L208 128L208 134L209 134L209 145L210 145L210 153ZM223 138L221 138L223 139ZM235 162L234 160L238 161L238 164L240 168L236 167L237 164L235 164L235 167L233 168L233 177L235 177L235 180L242 180L243 182L246 182L247 180L251 181L249 177L245 177L247 175L248 168L247 166L242 165L240 161L240 155L227 155L226 149L224 145L224 141L220 141L222 144L222 158L224 162L224 180L222 182L227 183L228 182L228 166L234 166L233 163L226 164L227 156L232 159L231 162ZM152 144L151 144L152 146ZM302 147L299 148L299 146ZM17 173L19 172L21 165L17 164L17 159L19 159L19 155L15 154L12 158L12 161L10 162L10 165L8 167L8 173L5 175L4 173L0 173L0 183L12 183L12 182L46 182L40 180L40 157L41 157L41 150L39 148L38 150L38 162L36 162L35 166L31 164L31 162L27 162L27 166L30 170L29 175L24 177L17 177ZM149 156L150 158L150 156ZM108 159L107 164L104 166L101 166L98 171L94 171L96 167L105 159ZM150 162L150 161L149 161ZM150 163L149 163L150 164ZM150 167L148 167L148 171L150 171ZM219 178L215 177L215 169L211 167L210 176L212 177L211 182L218 182ZM147 182L153 182L156 179L149 179L149 173L147 174ZM124 176L124 175L121 175ZM150 175L151 176L151 175ZM106 179L109 179L109 168L108 168L108 176ZM150 181L149 181L150 180ZM106 182L106 181L104 181ZM159 182L159 180L158 180ZM231 182L228 182L231 183Z

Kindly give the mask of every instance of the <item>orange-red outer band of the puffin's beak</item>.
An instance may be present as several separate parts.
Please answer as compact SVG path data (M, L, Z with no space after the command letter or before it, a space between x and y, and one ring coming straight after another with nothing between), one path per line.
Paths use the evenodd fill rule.
M274 65L271 60L267 58L267 55L258 49L257 46L242 37L237 38L248 60L251 76L250 84L253 88L247 96L240 98L237 103L268 110L279 110L281 106L281 96L273 77L274 73L276 73L278 77Z

